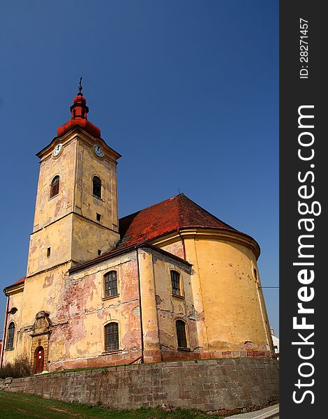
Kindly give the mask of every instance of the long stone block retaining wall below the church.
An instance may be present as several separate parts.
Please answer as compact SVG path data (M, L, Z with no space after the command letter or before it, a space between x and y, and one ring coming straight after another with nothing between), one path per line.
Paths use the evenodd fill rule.
M6 378L0 388L112 409L164 403L239 413L278 400L278 361L232 358L127 365Z

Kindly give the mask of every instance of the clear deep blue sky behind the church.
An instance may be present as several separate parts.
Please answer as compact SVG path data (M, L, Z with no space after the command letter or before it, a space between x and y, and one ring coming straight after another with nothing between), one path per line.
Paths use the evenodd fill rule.
M253 236L278 286L278 0L6 1L0 50L1 288L26 272L35 154L80 76L122 154L120 216L180 190ZM278 335L278 289L264 296Z

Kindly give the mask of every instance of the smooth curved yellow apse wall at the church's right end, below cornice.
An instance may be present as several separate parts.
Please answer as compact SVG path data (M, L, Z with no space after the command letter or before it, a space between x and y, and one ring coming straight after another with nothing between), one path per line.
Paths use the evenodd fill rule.
M253 268L258 268L251 249L197 238L194 245L209 351L269 350L268 321L261 311L253 274ZM248 346L246 341L250 342Z

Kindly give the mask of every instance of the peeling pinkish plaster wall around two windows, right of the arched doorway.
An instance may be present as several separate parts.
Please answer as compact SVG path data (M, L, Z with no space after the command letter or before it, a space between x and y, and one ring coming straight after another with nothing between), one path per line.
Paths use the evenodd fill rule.
M104 274L117 271L119 295L105 297ZM57 311L68 323L52 330L50 369L64 360L78 360L105 354L104 326L119 323L119 353L140 350L140 309L135 254L100 262L71 275ZM51 318L51 316L50 316Z

